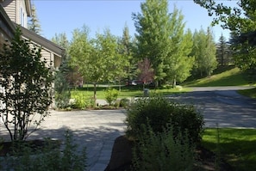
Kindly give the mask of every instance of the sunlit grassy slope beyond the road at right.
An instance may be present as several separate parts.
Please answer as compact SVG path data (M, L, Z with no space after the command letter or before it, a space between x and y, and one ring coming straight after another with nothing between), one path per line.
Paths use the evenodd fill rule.
M186 87L215 87L215 86L247 86L251 82L245 79L239 68L228 66L215 70L212 76L184 82Z

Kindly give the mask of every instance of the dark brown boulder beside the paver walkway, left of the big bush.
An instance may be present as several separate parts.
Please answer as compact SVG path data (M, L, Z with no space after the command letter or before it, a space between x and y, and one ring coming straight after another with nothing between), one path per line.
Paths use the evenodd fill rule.
M130 170L133 143L125 136L117 137L112 149L109 165L105 171Z

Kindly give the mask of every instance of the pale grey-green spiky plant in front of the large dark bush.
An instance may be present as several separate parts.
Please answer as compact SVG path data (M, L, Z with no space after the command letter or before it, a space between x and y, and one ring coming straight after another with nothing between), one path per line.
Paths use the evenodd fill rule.
M193 170L194 147L188 137L179 133L176 137L172 126L160 133L155 133L150 126L144 129L133 149L134 170Z

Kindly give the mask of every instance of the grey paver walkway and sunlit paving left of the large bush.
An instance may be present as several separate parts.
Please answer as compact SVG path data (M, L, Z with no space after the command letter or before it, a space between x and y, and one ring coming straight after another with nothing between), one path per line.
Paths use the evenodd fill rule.
M103 171L109 163L116 137L124 135L125 113L125 110L52 111L41 129L34 131L28 139L51 137L64 140L66 130L70 130L78 150L86 147L88 169ZM3 125L0 130L0 136L8 139Z

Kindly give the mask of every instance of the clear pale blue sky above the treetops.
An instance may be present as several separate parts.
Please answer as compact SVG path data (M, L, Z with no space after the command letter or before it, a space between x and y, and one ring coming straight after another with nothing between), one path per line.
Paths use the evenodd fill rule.
M69 40L72 39L72 31L81 28L83 25L90 28L90 35L103 33L109 28L111 34L122 36L125 24L128 25L131 36L135 34L132 13L140 13L139 0L32 0L37 16L41 23L42 35L51 40L55 34L66 33ZM218 1L222 3L222 1ZM227 2L234 5L235 1ZM170 0L169 12L176 4L182 10L186 27L192 32L203 27L204 30L210 26L212 18L208 16L207 10L201 8L192 0ZM212 27L215 41L218 41L221 34L228 40L228 30L220 26Z

